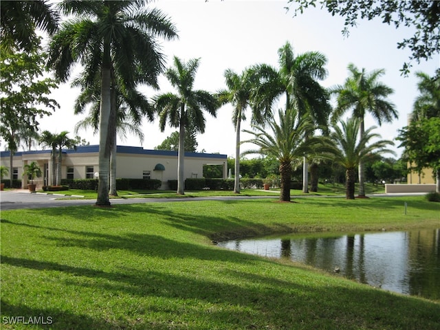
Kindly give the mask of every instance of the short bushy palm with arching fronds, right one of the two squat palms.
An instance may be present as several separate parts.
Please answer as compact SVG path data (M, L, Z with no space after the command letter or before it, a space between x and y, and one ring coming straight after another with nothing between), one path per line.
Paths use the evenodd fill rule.
M344 166L346 177L347 199L355 198L355 168L371 153L378 155L383 153L392 153L386 149L388 145L394 145L392 141L377 140L370 144L371 140L380 138L379 134L372 133L375 126L370 127L364 134L359 135L360 119L356 117L349 118L347 122L340 121L340 126L334 127L334 132L330 137L335 148L333 149L333 161Z

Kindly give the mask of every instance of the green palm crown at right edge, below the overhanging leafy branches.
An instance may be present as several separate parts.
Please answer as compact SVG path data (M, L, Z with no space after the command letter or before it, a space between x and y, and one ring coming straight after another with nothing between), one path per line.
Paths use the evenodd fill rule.
M411 120L440 118L440 69L433 77L423 72L416 72L416 76L420 94L415 99Z

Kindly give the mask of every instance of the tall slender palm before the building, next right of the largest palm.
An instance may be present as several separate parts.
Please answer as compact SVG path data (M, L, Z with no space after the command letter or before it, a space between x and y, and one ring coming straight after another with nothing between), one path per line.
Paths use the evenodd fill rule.
M179 128L179 151L177 161L177 194L184 195L184 157L185 157L185 128L192 125L195 131L205 132L205 117L203 110L212 116L217 115L219 102L208 91L193 89L195 74L199 67L199 58L181 61L174 56L174 67L166 70L165 76L177 89L178 94L166 93L155 96L155 109L159 113L159 124L162 131L166 122Z

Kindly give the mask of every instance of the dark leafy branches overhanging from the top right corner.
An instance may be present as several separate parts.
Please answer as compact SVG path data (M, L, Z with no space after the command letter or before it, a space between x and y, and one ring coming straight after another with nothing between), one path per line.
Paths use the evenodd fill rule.
M400 1L400 0L289 0L295 3L294 15L302 14L309 7L326 8L332 16L344 17L342 34L349 34L349 28L358 24L358 19L380 18L382 23L401 25L415 29L413 36L408 36L397 43L397 48L410 49L409 61L404 63L401 71L408 74L411 61L419 63L422 59L428 60L440 52L440 1Z

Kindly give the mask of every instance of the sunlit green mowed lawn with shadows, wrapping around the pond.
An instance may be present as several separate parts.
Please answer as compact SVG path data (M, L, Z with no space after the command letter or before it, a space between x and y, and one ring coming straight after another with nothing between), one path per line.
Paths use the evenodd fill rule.
M185 199L3 211L1 328L439 329L439 301L211 242L439 226L440 203L423 197ZM5 324L12 316L52 324Z

